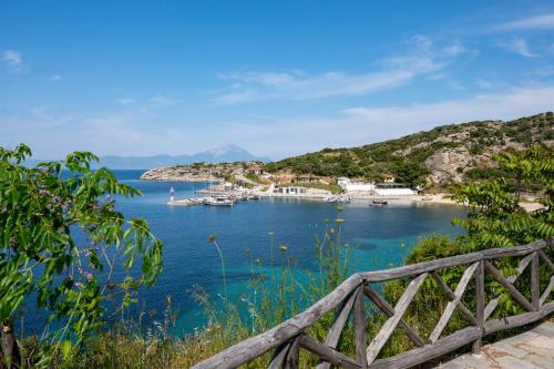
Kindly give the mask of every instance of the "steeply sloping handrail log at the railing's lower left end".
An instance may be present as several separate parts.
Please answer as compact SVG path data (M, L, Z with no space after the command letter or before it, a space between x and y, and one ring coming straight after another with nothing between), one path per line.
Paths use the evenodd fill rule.
M214 355L213 357L198 362L195 369L232 369L245 362L248 362L270 349L297 336L307 327L325 314L336 308L352 290L361 284L361 277L358 274L341 283L329 295L310 306L305 311L281 322L280 325L263 332L261 335L245 339L228 349Z

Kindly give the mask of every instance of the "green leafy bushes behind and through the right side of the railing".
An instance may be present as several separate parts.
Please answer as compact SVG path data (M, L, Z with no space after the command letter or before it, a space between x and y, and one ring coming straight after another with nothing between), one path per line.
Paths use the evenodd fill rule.
M468 209L468 217L454 219L453 223L462 226L466 232L450 239L441 235L433 235L422 239L406 258L407 264L429 262L454 255L479 252L493 247L511 247L531 243L536 239L554 237L553 219L553 186L554 186L554 156L552 150L533 146L524 152L504 152L496 155L499 168L505 177L455 185L451 187L451 198L463 204ZM519 204L520 187L524 183L540 184L542 191L542 209L525 212ZM552 250L546 250L552 257ZM504 276L514 274L521 258L505 257L494 263ZM541 267L540 284L542 290L550 283L550 273ZM440 277L454 290L465 267L449 267L439 270ZM393 280L383 286L387 300L397 301L404 291L409 280ZM522 274L516 288L530 298L531 281L529 274ZM523 312L522 308L512 300L510 294L489 275L485 276L485 299L490 301L500 297L493 318L501 318ZM417 327L422 335L429 335L437 325L441 314L449 303L448 296L441 293L433 279L427 283L410 304L404 319L412 327ZM462 298L462 303L474 311L475 290L470 284ZM382 326L384 317L373 315L368 325L370 332L376 332ZM456 311L449 321L445 335L470 325ZM377 327L377 328L376 328ZM501 335L501 334L500 334ZM394 335L381 352L382 356L396 355L411 348L411 342L403 336Z

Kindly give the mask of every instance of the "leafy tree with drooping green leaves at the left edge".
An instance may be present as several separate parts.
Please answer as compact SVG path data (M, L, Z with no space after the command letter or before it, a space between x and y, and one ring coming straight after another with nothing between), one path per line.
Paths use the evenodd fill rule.
M8 367L19 359L14 315L31 293L49 322L62 324L45 345L45 365L103 326L107 300L125 308L133 291L162 271L163 245L147 223L115 211L115 196L141 195L137 189L106 168L91 171L99 160L92 153L28 168L30 156L23 144L0 147L0 360ZM125 279L113 280L120 265Z

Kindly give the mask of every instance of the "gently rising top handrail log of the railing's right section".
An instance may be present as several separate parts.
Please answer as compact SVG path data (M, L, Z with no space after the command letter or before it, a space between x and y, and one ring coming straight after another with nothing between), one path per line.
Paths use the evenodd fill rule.
M479 260L491 260L507 256L524 256L536 250L542 250L550 246L551 242L537 240L523 246L491 248L479 253L451 256L432 262L406 265L393 269L360 273L360 277L365 281L380 283L391 279L416 276L422 273L430 273L445 267L451 267L462 264L472 264Z

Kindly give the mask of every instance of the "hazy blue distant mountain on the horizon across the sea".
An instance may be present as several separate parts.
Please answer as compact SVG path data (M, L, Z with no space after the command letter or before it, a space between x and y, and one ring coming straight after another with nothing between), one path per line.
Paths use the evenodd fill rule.
M94 164L98 168L106 166L111 170L150 170L160 166L173 166L177 164L191 163L234 163L234 162L250 162L260 161L268 162L269 158L256 156L248 151L237 145L226 145L216 147L209 151L192 154L192 155L154 155L154 156L116 156L106 155L100 158L100 164ZM40 161L30 160L25 165L34 165Z

